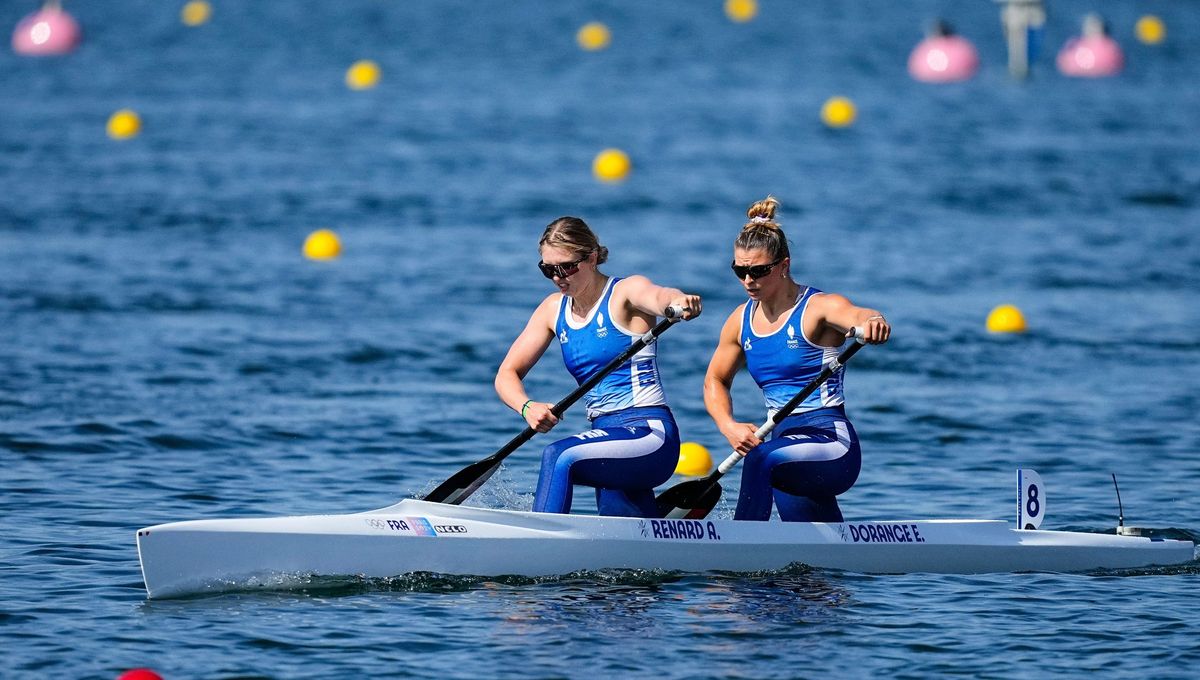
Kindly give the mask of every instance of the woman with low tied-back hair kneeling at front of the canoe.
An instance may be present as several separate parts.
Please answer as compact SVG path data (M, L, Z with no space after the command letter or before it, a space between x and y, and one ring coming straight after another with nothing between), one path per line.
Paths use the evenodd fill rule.
M558 425L553 404L526 393L526 374L558 338L563 361L583 384L643 333L668 306L684 319L700 315L701 300L644 276L610 277L608 259L578 217L559 217L539 241L538 267L558 288L541 301L500 363L496 392L529 427ZM679 461L679 429L659 379L656 343L650 343L587 393L594 429L558 440L542 451L534 512L570 512L572 485L596 489L600 514L658 517L654 487L671 479Z

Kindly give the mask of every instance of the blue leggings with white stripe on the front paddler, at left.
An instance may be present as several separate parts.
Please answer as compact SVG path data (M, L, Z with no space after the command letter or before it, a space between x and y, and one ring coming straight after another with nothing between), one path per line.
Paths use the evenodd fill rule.
M595 429L574 434L541 453L534 512L570 512L572 485L596 487L600 514L658 517L654 487L679 463L679 429L666 407L605 414Z

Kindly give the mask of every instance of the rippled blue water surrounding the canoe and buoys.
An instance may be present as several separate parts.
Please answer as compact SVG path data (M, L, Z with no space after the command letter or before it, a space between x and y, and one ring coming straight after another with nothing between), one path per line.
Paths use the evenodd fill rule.
M146 601L134 530L349 512L427 492L522 423L491 380L548 293L536 237L588 219L607 271L706 296L665 337L685 440L739 300L730 245L782 200L805 283L883 309L848 375L852 519L1200 530L1200 16L1105 2L1127 68L1058 76L1092 7L1052 0L1033 78L992 2L71 1L85 42L0 53L0 675L1190 678L1200 565L1103 574L584 573L314 579ZM36 2L0 5L13 26ZM1133 24L1153 12L1168 42ZM942 13L980 73L904 68ZM581 52L602 20L612 47ZM346 68L377 60L380 85ZM850 96L859 118L817 112ZM108 115L142 114L113 142ZM590 176L624 149L620 185ZM343 255L300 257L332 228ZM1010 302L1031 330L984 330ZM551 350L528 379L571 383ZM752 383L738 414L763 417ZM565 429L584 427L572 413ZM472 503L528 507L535 440ZM727 498L737 474L728 477ZM588 512L587 494L580 510ZM728 507L719 509L728 512Z

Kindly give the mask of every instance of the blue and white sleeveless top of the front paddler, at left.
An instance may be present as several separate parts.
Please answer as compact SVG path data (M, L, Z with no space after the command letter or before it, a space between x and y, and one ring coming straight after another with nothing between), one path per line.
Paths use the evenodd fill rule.
M608 305L618 281L616 277L608 279L596 306L582 323L571 319L571 299L566 295L558 307L554 332L563 348L563 362L577 384L582 385L641 337L641 333L632 333L612 319ZM588 419L634 407L666 404L659 380L656 345L655 342L642 348L587 393Z

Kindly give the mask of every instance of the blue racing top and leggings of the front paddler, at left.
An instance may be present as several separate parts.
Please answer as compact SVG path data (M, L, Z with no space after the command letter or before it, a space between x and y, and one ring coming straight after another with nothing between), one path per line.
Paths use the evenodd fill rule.
M571 318L563 296L554 324L563 361L580 384L641 337L620 327L610 311L610 278L583 321ZM650 343L606 375L584 397L594 429L546 446L534 512L570 512L574 485L596 487L600 514L658 517L654 487L671 479L679 461L679 429L659 380L658 343Z

